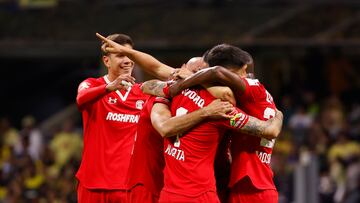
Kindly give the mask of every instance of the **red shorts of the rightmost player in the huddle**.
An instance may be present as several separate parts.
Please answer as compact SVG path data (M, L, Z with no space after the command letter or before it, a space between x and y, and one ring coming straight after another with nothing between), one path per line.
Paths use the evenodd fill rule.
M259 190L250 184L236 184L230 191L229 203L278 203L278 192L273 189Z

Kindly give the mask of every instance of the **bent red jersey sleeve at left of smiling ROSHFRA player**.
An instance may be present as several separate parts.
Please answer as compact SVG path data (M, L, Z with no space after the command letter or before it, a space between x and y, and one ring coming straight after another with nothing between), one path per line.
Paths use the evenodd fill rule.
M99 84L94 78L88 78L80 83L76 104L80 110L107 94L106 84Z

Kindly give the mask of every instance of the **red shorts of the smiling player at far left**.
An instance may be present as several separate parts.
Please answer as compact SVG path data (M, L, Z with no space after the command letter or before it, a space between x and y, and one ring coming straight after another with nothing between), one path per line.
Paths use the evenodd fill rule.
M127 203L128 193L126 190L104 190L104 189L88 189L81 183L78 184L78 203Z

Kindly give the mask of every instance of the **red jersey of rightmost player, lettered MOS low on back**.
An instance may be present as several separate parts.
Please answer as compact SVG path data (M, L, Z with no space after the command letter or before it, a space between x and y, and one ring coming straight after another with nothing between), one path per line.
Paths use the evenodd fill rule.
M244 78L246 89L236 94L241 109L260 120L275 116L276 106L270 93L256 79ZM234 135L231 143L231 174L229 186L249 177L258 189L276 189L270 159L275 140L250 135Z

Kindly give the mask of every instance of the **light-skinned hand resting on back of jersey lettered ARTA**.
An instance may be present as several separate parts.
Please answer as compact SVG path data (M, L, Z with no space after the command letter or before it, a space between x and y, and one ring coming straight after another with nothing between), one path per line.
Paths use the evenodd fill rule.
M206 116L212 119L220 119L220 118L231 118L231 115L228 113L234 111L234 106L225 101L221 101L220 99L216 99L212 101L209 105L205 106L203 110L206 112Z

